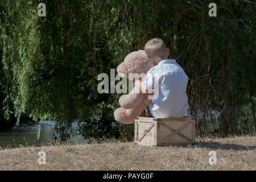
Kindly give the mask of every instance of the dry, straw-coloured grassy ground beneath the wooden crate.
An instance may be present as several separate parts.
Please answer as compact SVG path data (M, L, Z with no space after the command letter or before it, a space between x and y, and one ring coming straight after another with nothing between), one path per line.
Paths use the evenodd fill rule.
M46 152L46 165L38 152ZM209 151L217 164L210 165ZM194 146L132 142L62 144L0 150L0 170L256 170L256 137L197 138Z

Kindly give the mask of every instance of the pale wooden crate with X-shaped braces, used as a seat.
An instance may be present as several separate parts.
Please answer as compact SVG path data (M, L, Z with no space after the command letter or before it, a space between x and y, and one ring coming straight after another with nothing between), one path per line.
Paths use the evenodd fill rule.
M134 142L147 146L195 143L196 123L193 117L136 117Z

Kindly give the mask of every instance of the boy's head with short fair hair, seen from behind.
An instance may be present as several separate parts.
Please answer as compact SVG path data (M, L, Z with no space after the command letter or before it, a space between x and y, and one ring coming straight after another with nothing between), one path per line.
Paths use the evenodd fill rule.
M166 44L160 38L148 40L144 46L144 51L155 65L164 59L168 59L170 54L169 48L166 47Z

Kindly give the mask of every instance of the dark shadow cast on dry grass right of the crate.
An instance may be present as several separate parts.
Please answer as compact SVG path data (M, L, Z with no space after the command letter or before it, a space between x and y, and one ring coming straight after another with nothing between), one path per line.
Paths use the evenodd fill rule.
M200 148L212 148L214 150L256 150L256 146L243 146L241 144L234 143L218 143L218 142L196 142L193 146Z

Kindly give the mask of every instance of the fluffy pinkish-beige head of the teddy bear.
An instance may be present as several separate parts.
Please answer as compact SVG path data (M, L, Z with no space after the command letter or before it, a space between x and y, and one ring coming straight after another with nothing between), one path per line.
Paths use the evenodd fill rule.
M117 67L117 73L120 77L127 77L129 80L137 80L146 76L154 64L143 50L134 51L125 57L123 63ZM142 74L144 73L144 74Z

